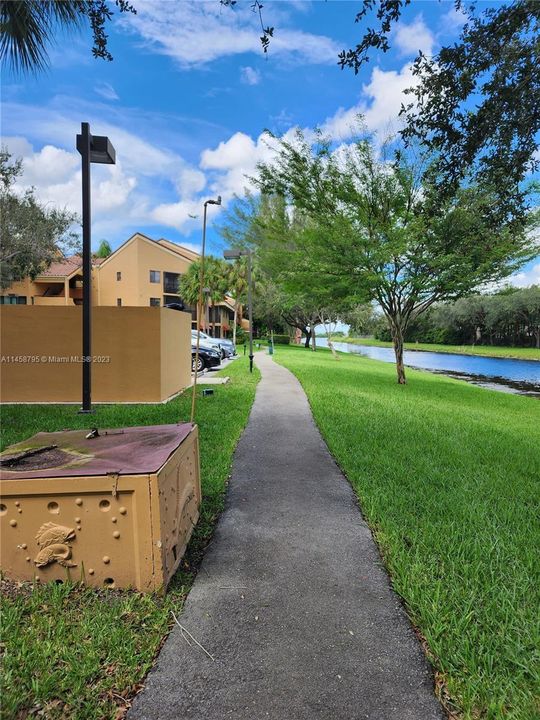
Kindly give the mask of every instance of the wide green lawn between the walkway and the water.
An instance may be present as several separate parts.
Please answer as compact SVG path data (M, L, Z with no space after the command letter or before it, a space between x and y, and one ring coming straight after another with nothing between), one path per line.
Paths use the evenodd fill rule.
M358 494L447 705L539 718L540 402L413 370L399 386L393 365L325 350L275 359Z

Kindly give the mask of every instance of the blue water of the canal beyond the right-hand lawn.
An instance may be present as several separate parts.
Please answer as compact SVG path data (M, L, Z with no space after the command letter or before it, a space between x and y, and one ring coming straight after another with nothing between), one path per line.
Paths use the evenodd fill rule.
M328 347L326 338L317 338L317 344ZM373 360L395 362L392 348L339 342L334 343L334 347L341 352L356 353ZM405 350L404 361L409 367L451 375L493 390L540 397L540 362L535 360Z

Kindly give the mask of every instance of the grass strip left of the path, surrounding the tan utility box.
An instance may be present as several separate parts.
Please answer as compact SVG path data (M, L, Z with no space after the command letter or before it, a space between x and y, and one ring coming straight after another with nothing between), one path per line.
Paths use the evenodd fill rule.
M199 397L201 518L166 596L77 585L17 587L3 582L1 717L119 718L153 664L182 608L223 506L232 453L247 422L259 373L240 358L231 382ZM198 391L200 394L200 390ZM75 406L2 409L2 448L39 430L157 425L189 420L191 392L166 405L96 406L91 420Z

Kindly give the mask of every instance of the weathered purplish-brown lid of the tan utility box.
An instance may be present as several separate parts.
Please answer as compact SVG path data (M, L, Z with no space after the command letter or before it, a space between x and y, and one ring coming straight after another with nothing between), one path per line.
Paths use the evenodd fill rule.
M194 425L148 425L37 433L0 454L0 479L118 475L157 472Z

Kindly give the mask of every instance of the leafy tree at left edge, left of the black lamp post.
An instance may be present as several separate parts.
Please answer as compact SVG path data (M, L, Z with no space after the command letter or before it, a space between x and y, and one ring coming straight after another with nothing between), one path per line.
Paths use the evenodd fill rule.
M67 210L41 204L33 189L22 194L14 184L22 162L11 162L0 150L0 289L30 276L32 279L63 253L78 249L72 226L77 216Z

